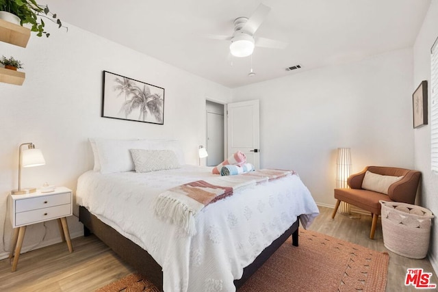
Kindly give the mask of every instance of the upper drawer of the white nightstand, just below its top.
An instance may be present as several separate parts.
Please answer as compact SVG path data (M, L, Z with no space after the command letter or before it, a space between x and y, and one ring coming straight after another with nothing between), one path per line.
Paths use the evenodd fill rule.
M54 194L47 196L38 196L15 201L15 212L24 212L47 207L58 206L60 204L70 204L71 194Z

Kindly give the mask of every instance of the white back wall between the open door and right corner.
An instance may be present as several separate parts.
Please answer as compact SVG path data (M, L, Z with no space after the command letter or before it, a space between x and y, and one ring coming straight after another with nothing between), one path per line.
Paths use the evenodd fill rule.
M234 89L233 102L260 100L261 168L296 170L329 207L337 147L351 148L353 172L413 168L412 63L402 49Z

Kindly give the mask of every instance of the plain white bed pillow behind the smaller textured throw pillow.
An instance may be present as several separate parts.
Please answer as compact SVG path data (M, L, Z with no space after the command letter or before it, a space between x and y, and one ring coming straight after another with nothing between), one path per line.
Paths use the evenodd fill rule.
M103 174L112 172L130 172L135 170L129 149L173 150L179 163L184 164L183 152L177 140L117 140L90 139L94 154L94 171ZM94 146L93 146L94 145Z

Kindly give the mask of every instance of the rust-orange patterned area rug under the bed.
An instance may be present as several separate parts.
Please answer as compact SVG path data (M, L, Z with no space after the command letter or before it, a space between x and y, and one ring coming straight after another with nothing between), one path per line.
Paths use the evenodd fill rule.
M299 246L287 239L238 292L385 291L389 255L311 230L299 232ZM158 292L131 274L96 292Z

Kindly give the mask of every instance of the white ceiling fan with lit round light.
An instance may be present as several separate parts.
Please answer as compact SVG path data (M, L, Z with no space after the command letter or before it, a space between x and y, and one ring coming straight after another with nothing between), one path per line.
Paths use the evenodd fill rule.
M254 47L285 49L287 42L254 36L270 10L268 6L260 4L250 18L243 16L235 18L232 36L208 35L207 37L216 40L231 40L230 53L235 57L248 57L253 53Z

